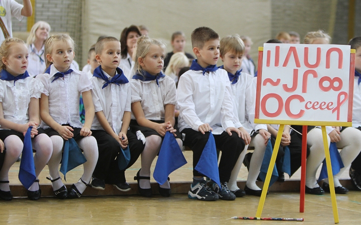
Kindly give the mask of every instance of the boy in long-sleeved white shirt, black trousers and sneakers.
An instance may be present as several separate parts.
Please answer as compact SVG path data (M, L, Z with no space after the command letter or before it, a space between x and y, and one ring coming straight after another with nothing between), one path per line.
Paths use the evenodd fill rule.
M210 189L204 174L193 169L193 183L188 197L199 200L234 200L236 196L228 187L232 169L245 147L248 133L235 127L238 118L233 113L232 90L227 72L218 69L219 35L209 27L199 27L192 32L193 51L197 56L191 69L178 83L180 108L178 128L186 134L184 144L193 150L193 166L196 167L208 141L214 134L216 147L222 150L219 164L221 187L211 182ZM238 121L239 122L239 121ZM241 138L242 137L242 138Z

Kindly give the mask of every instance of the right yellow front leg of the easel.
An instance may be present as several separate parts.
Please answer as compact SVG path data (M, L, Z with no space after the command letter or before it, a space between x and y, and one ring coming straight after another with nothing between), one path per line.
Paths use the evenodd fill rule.
M331 157L329 154L329 146L328 146L328 141L327 141L326 127L321 126L321 129L322 129L323 146L324 146L325 156L326 156L327 175L328 175L330 195L331 195L331 201L332 201L333 219L334 219L335 223L338 223L337 202L336 202L336 194L334 191Z

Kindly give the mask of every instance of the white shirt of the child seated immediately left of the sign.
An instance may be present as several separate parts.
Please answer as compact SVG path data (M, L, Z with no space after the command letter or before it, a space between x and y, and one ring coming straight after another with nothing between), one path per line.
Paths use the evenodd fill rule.
M266 124L255 124L255 107L256 107L256 83L252 75L241 72L238 81L235 84L231 83L233 99L234 99L234 113L238 116L242 126L251 133L252 130L265 129ZM239 127L240 124L236 124Z

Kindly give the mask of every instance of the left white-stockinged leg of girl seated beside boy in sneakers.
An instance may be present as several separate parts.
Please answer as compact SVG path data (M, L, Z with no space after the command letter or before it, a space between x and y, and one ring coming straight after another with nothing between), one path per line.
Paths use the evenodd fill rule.
M144 150L141 153L141 169L139 171L139 176L150 176L150 166L153 162L155 156L159 152L161 146L161 137L158 135L150 135L145 137L146 142ZM169 182L165 182L168 183ZM150 188L149 179L140 179L139 186L143 189ZM164 187L169 188L169 187Z

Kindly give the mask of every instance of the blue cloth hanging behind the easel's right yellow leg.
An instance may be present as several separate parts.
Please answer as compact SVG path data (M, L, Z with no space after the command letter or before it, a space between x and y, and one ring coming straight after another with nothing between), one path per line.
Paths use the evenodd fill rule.
M331 157L331 166L332 166L332 174L336 175L341 168L344 167L341 155L338 152L336 142L331 142L329 146L329 152ZM327 178L327 166L326 166L326 159L323 159L322 168L320 175L318 177L318 181Z

